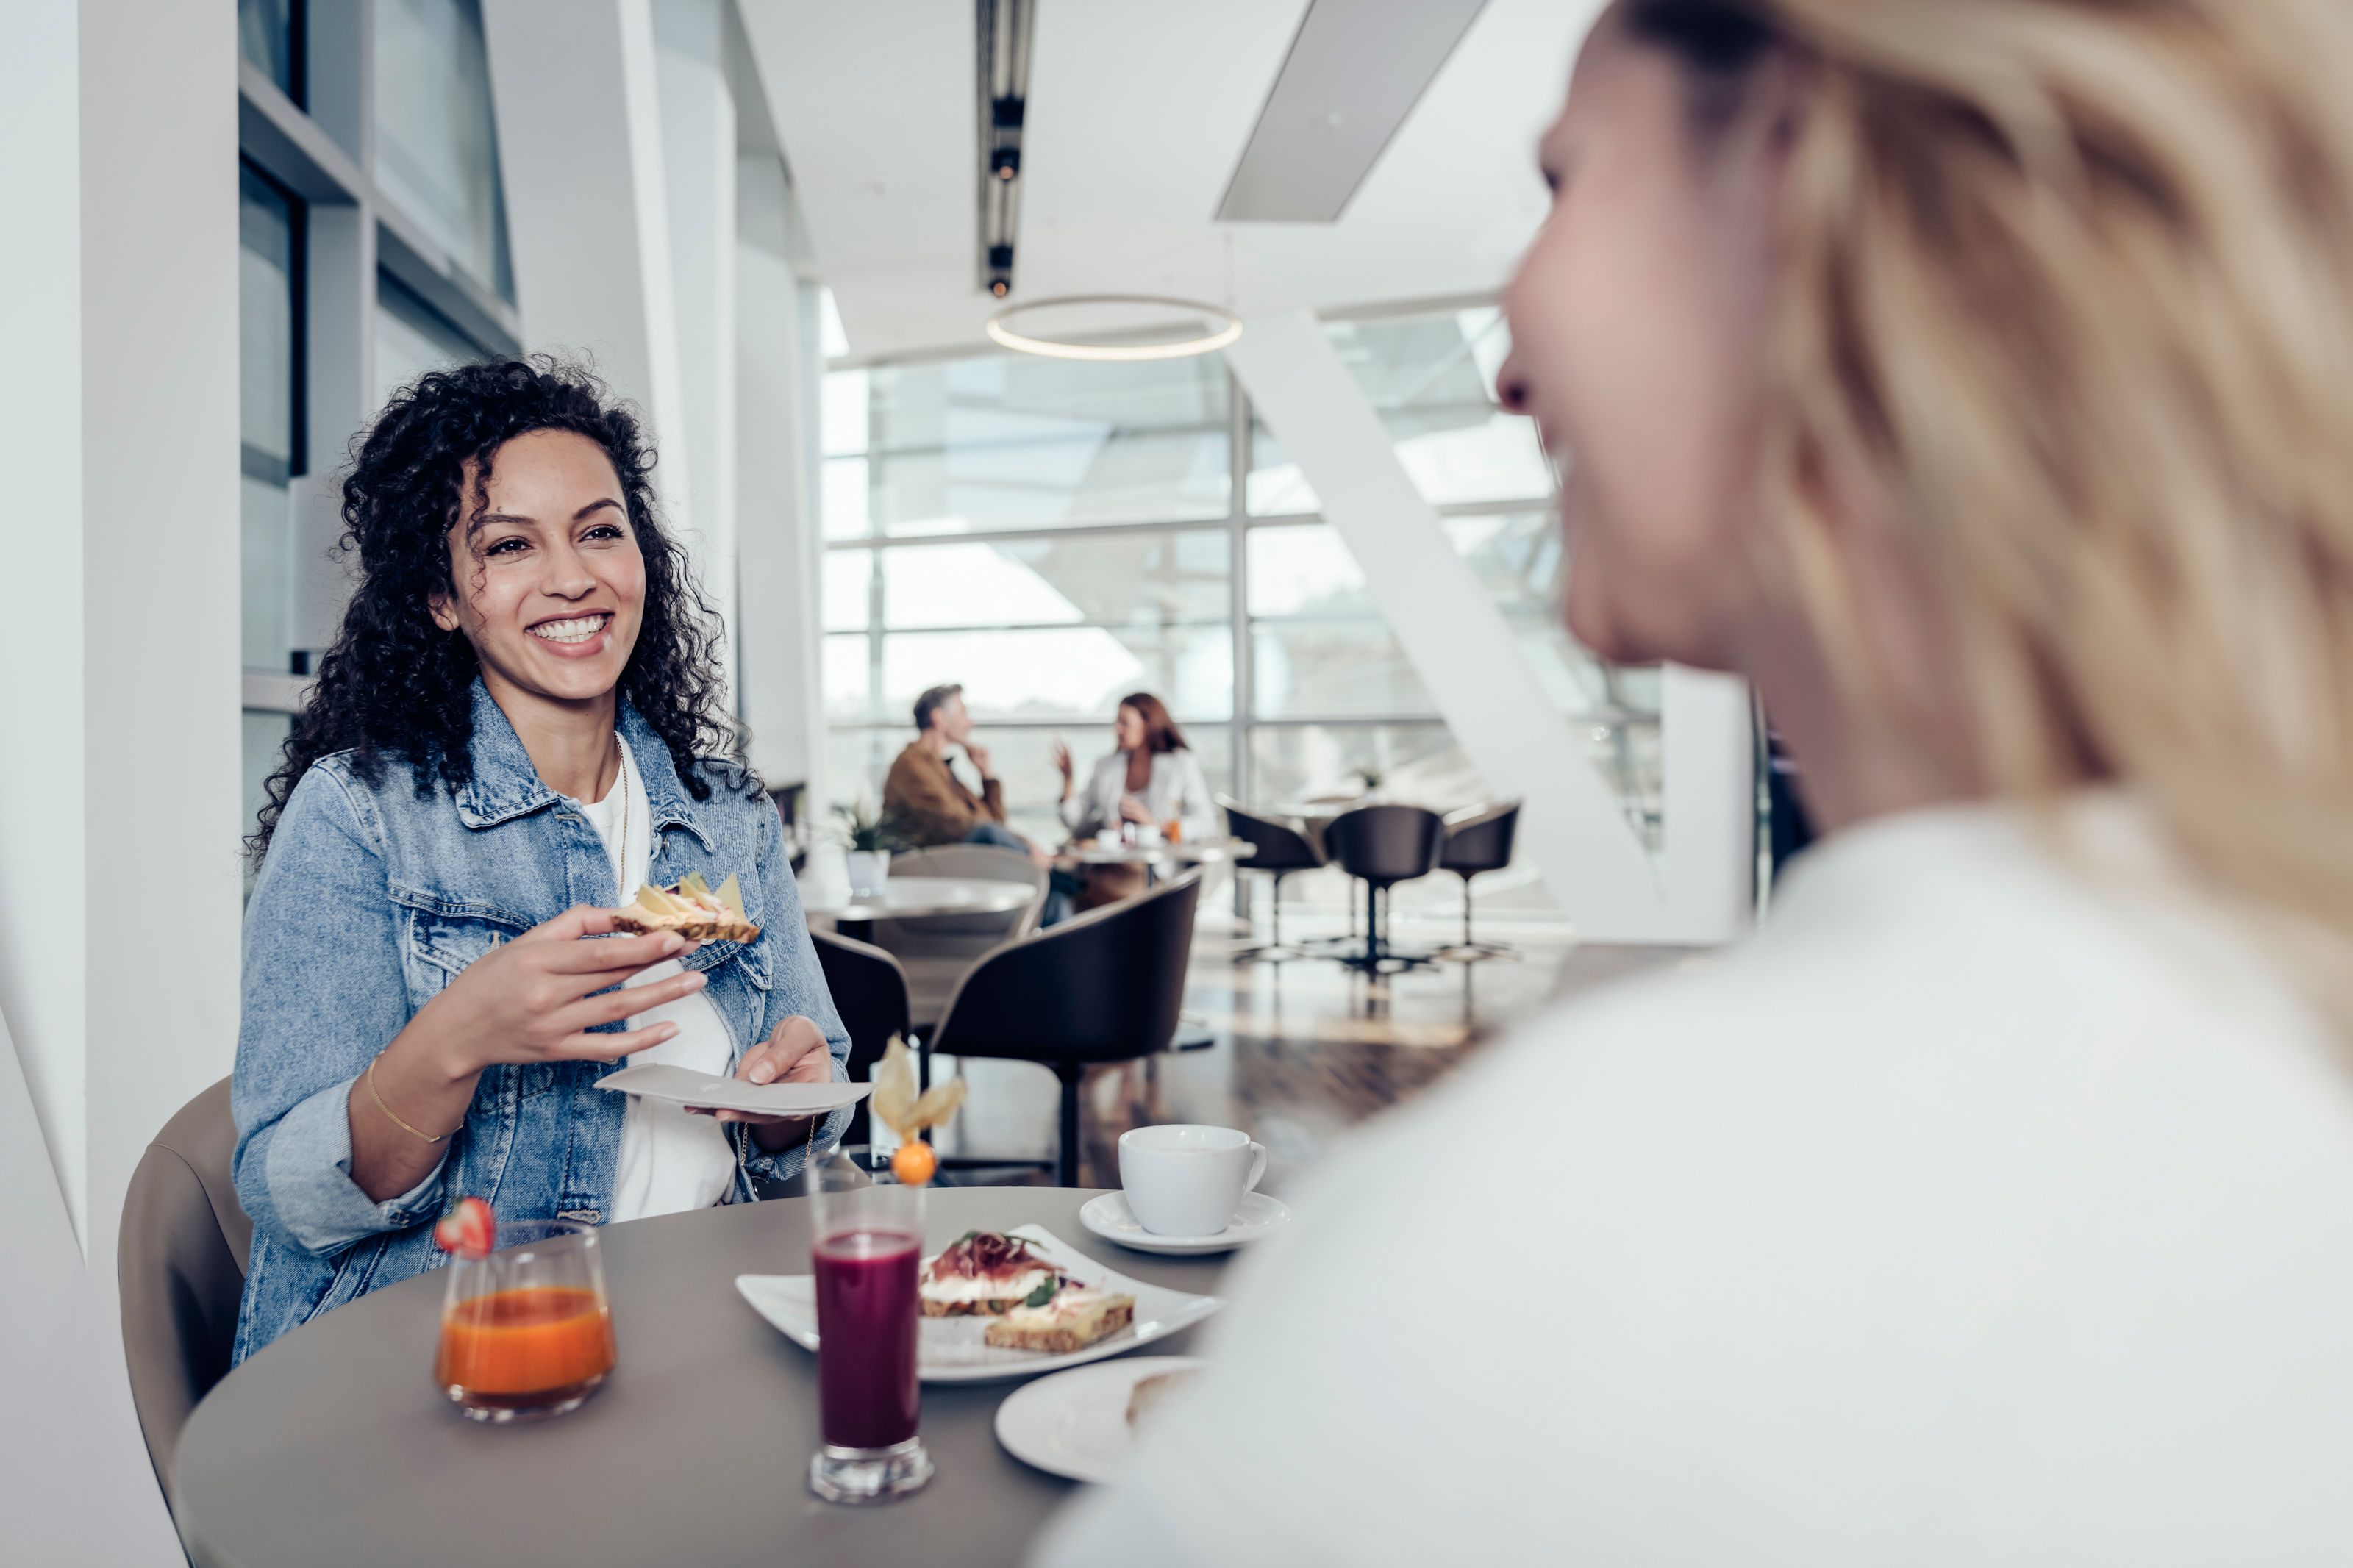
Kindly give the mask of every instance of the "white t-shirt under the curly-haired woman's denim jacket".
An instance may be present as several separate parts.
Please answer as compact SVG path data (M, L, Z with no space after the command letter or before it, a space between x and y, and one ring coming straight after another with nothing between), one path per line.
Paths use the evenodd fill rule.
M569 797L567 797L569 799ZM628 903L645 884L652 860L654 809L645 799L645 780L638 778L638 759L621 741L621 773L605 799L572 802L605 839L605 853L614 860L614 886L619 903ZM621 865L621 813L628 811L628 865ZM649 985L680 973L678 959L654 964L631 985ZM631 1030L649 1023L675 1023L678 1034L631 1056L631 1063L678 1063L696 1072L729 1072L736 1060L734 1034L727 1018L708 992L694 992L678 1001L638 1013ZM711 1117L689 1117L678 1105L659 1105L628 1095L621 1119L621 1159L612 1180L612 1211L607 1222L642 1220L656 1213L680 1213L685 1208L711 1208L725 1201L734 1187L736 1159L727 1143L727 1128Z

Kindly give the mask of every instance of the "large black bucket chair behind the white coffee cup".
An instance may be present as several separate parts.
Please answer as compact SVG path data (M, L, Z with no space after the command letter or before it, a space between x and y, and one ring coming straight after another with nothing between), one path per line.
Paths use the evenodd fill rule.
M1007 943L958 983L939 1030L925 1041L944 1056L1054 1070L1061 1079L1054 1173L1064 1187L1078 1185L1078 1086L1087 1067L1158 1056L1176 1034L1198 905L1200 870L1191 870Z

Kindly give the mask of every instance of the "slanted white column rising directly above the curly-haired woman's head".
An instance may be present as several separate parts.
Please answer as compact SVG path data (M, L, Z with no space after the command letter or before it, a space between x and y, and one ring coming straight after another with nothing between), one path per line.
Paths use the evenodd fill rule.
M525 348L586 353L661 444L671 522L694 473L671 287L647 0L482 0Z

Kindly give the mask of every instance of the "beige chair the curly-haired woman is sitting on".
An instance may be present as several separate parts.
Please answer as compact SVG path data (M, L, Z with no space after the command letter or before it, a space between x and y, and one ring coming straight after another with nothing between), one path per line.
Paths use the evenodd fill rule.
M228 1079L221 1079L165 1121L122 1199L115 1255L122 1359L165 1502L179 1429L228 1375L238 1335L254 1222L228 1180L235 1147L238 1124L228 1117Z

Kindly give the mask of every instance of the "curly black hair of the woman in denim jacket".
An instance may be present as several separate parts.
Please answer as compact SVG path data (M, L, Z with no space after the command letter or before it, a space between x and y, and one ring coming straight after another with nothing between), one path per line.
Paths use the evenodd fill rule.
M654 447L635 411L612 400L593 371L553 355L478 360L426 371L355 437L339 552L358 552L360 581L268 778L268 802L247 839L256 863L287 797L320 757L351 752L369 785L402 762L419 797L435 785L456 792L473 778L473 644L433 623L433 597L454 583L449 529L459 510L487 510L492 456L532 430L586 435L621 480L645 555L645 618L621 670L621 696L671 748L694 799L711 799L696 766L704 759L729 764L729 778L748 776L741 733L722 710L720 621L687 552L661 529ZM466 463L475 465L471 496Z

